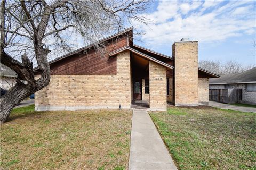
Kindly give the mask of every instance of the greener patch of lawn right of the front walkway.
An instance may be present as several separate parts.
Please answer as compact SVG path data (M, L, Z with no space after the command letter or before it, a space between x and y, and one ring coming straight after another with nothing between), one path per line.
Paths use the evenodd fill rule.
M150 112L179 169L256 169L256 114L171 107Z

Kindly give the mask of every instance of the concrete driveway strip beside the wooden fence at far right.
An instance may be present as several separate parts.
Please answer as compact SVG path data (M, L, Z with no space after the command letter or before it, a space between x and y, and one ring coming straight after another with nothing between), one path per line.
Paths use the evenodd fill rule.
M234 105L229 105L229 104L224 104L224 103L218 103L215 101L209 101L209 106L218 107L218 108L222 108L222 109L230 109L230 110L234 110L234 111L256 113L256 108L253 108L253 107L234 106Z

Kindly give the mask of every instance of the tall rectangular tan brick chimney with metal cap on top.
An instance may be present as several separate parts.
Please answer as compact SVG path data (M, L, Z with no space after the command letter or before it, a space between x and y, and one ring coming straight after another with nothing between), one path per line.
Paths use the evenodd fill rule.
M182 38L172 45L175 106L198 106L198 42Z

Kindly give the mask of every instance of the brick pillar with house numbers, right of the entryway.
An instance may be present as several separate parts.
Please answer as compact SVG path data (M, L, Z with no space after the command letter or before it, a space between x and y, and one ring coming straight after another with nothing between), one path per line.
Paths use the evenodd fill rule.
M149 107L166 111L166 68L149 61Z

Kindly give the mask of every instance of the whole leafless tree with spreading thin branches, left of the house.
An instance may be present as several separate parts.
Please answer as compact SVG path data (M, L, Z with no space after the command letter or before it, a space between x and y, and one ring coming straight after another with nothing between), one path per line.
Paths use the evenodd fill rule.
M150 0L0 0L1 63L17 73L15 86L0 100L0 121L6 121L19 101L50 82L49 53L73 49L73 35L84 44L94 43L105 54L99 39L123 29L141 15ZM33 62L41 75L35 79Z

